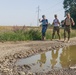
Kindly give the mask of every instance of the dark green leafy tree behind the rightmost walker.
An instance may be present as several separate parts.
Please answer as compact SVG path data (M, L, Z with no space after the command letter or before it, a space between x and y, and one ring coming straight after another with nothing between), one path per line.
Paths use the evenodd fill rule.
M69 12L71 14L71 17L75 21L75 26L73 28L76 28L76 0L64 0L63 2L65 14Z

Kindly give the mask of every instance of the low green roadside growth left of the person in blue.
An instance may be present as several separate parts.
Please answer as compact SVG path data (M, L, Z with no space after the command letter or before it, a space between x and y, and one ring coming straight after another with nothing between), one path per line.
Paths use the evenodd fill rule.
M0 41L25 41L25 40L41 40L41 33L38 30L4 32L0 34Z

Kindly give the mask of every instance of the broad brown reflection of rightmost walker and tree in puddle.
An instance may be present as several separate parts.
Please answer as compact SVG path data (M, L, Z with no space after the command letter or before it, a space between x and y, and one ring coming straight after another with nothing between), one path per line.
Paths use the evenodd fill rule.
M60 64L62 68L67 68L76 64L76 46L63 48L63 52L60 57Z

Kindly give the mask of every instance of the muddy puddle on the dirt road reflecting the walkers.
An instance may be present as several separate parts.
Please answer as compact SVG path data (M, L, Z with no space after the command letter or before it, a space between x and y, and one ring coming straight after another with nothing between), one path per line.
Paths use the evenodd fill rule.
M76 45L20 59L16 65L28 65L32 72L48 72L52 69L69 68L76 65Z

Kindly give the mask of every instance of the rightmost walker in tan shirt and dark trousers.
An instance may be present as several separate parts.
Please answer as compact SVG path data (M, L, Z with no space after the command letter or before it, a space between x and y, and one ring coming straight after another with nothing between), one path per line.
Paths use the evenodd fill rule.
M68 33L68 41L70 42L71 25L75 25L74 20L71 18L70 14L67 13L64 20L64 42L66 42L66 33Z

